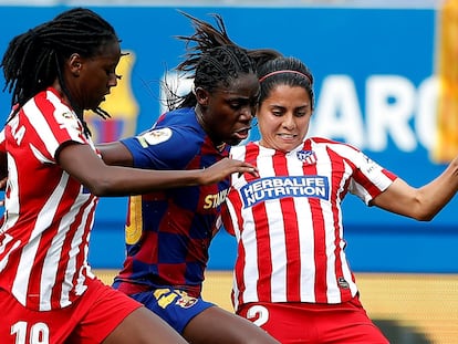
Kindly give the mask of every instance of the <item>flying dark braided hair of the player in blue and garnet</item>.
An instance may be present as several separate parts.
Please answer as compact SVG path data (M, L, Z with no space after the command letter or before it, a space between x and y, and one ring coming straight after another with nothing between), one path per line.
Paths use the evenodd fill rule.
M187 49L185 61L178 64L176 70L194 79L195 87L202 87L211 93L218 86L228 87L230 82L241 74L256 73L254 61L248 55L247 50L232 43L228 38L225 23L218 14L212 15L217 22L215 28L208 22L181 13L191 20L196 31L190 37L176 37L186 42ZM180 96L168 86L167 91L169 110L197 104L194 92Z

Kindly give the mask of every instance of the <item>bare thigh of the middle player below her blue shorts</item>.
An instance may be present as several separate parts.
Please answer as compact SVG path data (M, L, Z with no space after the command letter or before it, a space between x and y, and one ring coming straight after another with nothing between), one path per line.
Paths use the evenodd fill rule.
M196 315L184 331L189 343L205 344L279 344L248 320L212 306Z

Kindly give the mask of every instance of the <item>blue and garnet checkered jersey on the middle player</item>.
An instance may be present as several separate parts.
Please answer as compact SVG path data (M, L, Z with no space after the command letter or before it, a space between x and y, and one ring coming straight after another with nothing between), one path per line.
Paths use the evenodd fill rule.
M214 145L194 108L166 113L152 129L122 143L144 169L201 169L229 154L229 147ZM228 190L229 179L129 197L126 260L113 286L127 294L174 286L199 295Z

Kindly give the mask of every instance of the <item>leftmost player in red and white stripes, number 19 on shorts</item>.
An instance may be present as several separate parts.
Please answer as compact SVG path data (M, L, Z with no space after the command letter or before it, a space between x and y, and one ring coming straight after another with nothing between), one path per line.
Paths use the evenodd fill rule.
M214 184L247 164L153 171L103 163L83 119L116 86L112 25L67 10L15 37L1 62L13 110L0 135L8 165L0 229L0 342L186 343L140 303L104 285L87 264L98 196ZM7 158L7 160L4 159Z

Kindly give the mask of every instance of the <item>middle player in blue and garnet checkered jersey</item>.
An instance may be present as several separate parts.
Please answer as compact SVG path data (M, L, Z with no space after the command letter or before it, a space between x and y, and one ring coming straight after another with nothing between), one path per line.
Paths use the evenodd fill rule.
M197 46L177 69L194 72L192 91L173 94L175 108L146 133L101 145L105 161L160 170L207 168L228 156L229 145L248 137L259 95L253 62L243 49L205 40L209 27L191 20L196 34L181 39ZM113 285L190 343L278 343L201 299L208 248L228 188L229 180L222 180L131 197L127 258Z

